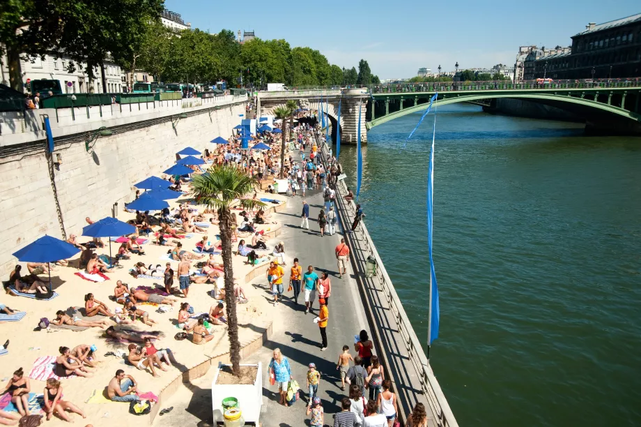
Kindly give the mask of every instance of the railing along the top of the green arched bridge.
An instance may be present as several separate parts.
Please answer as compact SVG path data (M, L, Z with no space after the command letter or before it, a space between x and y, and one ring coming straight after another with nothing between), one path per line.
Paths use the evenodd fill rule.
M640 78L617 80L526 80L512 83L509 80L488 82L424 82L399 84L374 84L369 86L370 93L411 93L411 92L448 92L448 91L488 91L488 90L527 90L527 89L603 89L640 87Z

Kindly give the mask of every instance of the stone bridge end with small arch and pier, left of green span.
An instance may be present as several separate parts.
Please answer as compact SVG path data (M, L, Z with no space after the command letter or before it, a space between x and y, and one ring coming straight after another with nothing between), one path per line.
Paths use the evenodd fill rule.
M371 96L366 89L328 89L325 91L282 91L258 92L256 117L273 114L275 108L283 106L288 100L295 100L298 107L309 110L323 110L332 124L332 139L336 140L339 104L341 105L341 144L357 144L358 114L360 112L361 143L367 143L365 117Z

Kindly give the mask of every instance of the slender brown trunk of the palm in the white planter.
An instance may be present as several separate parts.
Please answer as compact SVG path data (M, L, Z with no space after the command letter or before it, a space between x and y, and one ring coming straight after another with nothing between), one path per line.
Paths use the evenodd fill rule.
M236 297L233 293L233 267L231 265L231 214L229 209L218 209L220 218L220 241L222 245L222 264L225 280L225 303L227 305L227 335L229 336L229 358L233 374L240 377L240 342L238 341L238 316Z

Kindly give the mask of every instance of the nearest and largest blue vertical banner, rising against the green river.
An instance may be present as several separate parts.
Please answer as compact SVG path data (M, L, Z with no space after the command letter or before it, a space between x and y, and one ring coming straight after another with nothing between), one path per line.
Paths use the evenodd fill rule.
M431 103L430 103L431 104ZM432 345L433 341L438 338L438 324L440 320L440 308L438 304L438 285L436 285L436 271L434 269L434 259L432 256L432 221L433 221L433 201L434 201L434 140L436 137L436 114L434 114L434 126L432 128L432 147L430 150L430 160L427 169L427 244L430 258L430 292L429 292L429 319L427 331L427 345ZM428 351L429 354L429 351Z

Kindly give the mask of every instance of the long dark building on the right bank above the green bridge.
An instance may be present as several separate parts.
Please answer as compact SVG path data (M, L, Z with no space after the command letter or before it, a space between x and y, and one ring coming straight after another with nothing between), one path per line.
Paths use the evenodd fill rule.
M641 77L641 13L596 24L532 61L532 77L558 80ZM525 77L527 79L527 77Z

